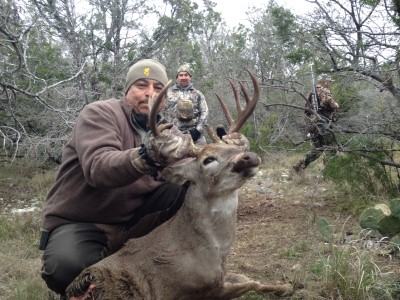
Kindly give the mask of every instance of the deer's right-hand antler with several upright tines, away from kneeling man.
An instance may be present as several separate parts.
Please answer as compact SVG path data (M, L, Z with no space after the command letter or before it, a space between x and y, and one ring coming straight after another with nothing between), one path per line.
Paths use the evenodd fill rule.
M241 81L239 81L240 89L241 89L244 99L246 101L246 107L244 109L240 105L239 94L238 94L235 84L231 80L229 80L229 83L233 90L233 94L235 96L236 110L238 112L238 116L237 116L236 120L234 120L232 118L232 115L230 114L230 112L229 112L228 108L226 107L225 102L222 100L222 98L216 94L216 97L222 107L222 110L224 111L226 120L228 121L228 125L229 125L228 133L238 132L240 130L240 128L242 128L243 124L253 113L254 109L256 108L258 99L260 98L260 87L258 85L257 78L249 70L247 70L247 72L249 73L251 81L253 82L254 94L253 94L253 98L250 99L250 97L247 93L246 87L243 85L243 83ZM220 140L217 137L217 134L214 131L212 131L211 128L208 127L207 131L214 142L218 142Z

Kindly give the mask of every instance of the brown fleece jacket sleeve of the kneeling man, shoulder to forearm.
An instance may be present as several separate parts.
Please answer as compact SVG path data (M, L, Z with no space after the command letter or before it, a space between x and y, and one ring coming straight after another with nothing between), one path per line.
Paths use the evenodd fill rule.
M88 105L80 113L71 146L79 159L86 182L96 188L129 185L143 173L132 165L138 155L137 142L127 133L128 122L121 121L106 105ZM130 139L129 142L126 139Z

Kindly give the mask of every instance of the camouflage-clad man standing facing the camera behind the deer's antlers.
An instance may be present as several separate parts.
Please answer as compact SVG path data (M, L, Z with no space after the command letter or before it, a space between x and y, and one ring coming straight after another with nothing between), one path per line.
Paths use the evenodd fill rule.
M208 106L202 92L192 84L193 71L188 65L179 67L176 84L170 87L163 115L183 133L190 133L198 146L206 144L203 135L208 119Z

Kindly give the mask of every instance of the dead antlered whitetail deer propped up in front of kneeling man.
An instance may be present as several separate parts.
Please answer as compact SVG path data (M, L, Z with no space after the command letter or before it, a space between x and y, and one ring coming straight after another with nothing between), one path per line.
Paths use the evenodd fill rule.
M238 132L259 98L257 80L250 71L249 74L254 95L250 100L241 84L247 102L244 110L230 81L239 111L236 121L217 96L230 124L230 133ZM158 134L154 121L156 107L166 88L150 112L154 135ZM68 297L86 293L84 299L205 300L232 299L250 290L277 295L292 292L289 283L265 285L244 275L226 273L225 261L235 239L237 190L257 173L261 159L255 153L222 143L216 134L211 135L215 143L195 148L193 157L162 171L167 181L177 184L190 181L185 201L176 215L83 270L68 287Z

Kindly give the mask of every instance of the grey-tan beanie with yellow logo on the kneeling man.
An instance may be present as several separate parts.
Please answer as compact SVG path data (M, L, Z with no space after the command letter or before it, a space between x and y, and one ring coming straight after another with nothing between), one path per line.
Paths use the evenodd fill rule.
M153 79L164 86L168 83L168 76L164 65L155 59L142 59L129 68L125 81L125 94L131 85L139 79Z

